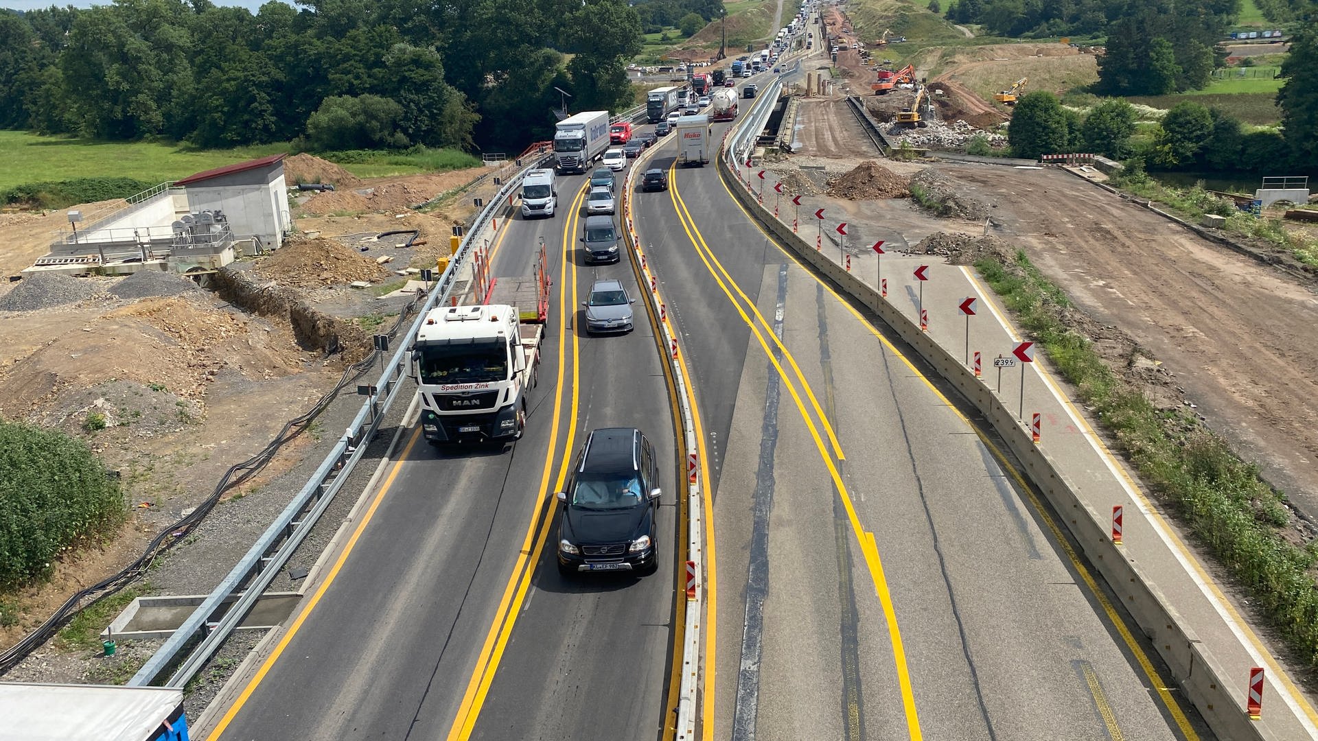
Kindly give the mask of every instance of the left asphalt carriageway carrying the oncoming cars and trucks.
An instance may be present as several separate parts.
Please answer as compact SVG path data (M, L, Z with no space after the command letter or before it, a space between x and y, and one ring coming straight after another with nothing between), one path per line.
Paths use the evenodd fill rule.
M210 738L660 738L668 713L679 554L673 413L654 330L584 336L585 177L559 179L552 219L515 219L494 276L554 277L539 385L507 450L435 450L407 430L399 463ZM564 580L554 492L585 432L635 426L662 471L658 574ZM600 708L618 712L601 713Z

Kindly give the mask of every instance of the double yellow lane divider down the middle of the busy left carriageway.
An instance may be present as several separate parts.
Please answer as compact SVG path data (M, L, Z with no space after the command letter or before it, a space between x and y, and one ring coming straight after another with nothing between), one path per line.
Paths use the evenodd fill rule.
M576 224L580 220L581 200L585 196L585 185L583 183L581 190L577 191L576 198L572 200L572 210L563 224L563 248L569 249L572 245L571 232L576 229ZM572 262L572 303L567 302L567 287L565 281L568 276L568 264ZM558 377L558 392L554 398L554 418L551 422L550 432L550 448L544 459L544 471L540 477L539 492L542 496L550 494L546 485L550 480L550 469L555 459L555 442L558 439L559 431L559 418L563 409L563 374L564 374L564 353L565 343L563 341L567 334L567 323L569 314L569 306L575 311L576 309L576 262L571 260L568 254L563 256L563 268L560 272L559 285L561 290L559 293L559 312L561 314L559 322L559 377ZM559 473L554 490L559 490L563 487L563 480L567 475L568 460L571 460L572 442L576 436L576 415L577 415L577 377L579 377L579 363L577 363L577 335L576 331L572 332L572 411L568 417L568 431L567 439L563 443L563 455L559 456ZM548 509L546 510L546 505ZM481 646L481 653L477 655L476 667L472 671L472 678L467 683L467 691L463 694L463 703L457 709L457 715L453 717L453 724L448 730L448 740L465 740L471 736L472 729L476 726L476 721L480 717L481 707L485 704L485 695L489 692L490 683L494 680L494 672L498 668L500 659L503 657L503 650L507 646L507 639L513 634L513 626L517 624L517 616L521 612L522 601L526 599L527 588L531 584L531 576L535 574L535 563L540 558L540 552L544 550L544 541L548 537L550 526L554 522L552 510L555 506L555 500L552 496L544 497L536 502L535 510L531 516L531 523L526 531L526 539L522 542L522 550L517 556L517 564L513 567L513 572L509 575L507 585L503 588L503 599L500 601L500 608L494 614L494 621L490 624L489 633L485 636L485 643ZM540 517L543 514L543 518ZM536 521L539 519L540 527L536 531ZM531 545L531 538L534 534L534 546Z

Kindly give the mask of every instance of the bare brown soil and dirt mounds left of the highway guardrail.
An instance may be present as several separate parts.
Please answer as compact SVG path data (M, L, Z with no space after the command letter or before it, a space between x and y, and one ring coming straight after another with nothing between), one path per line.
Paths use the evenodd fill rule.
M448 254L451 225L474 212L471 198L449 198L427 214L407 206L456 193L489 171L476 167L360 181L310 156L289 157L285 163L290 183L333 182L348 190L302 196L302 207L294 211L295 228L320 232L319 239L291 239L286 248L260 260L257 270L337 316L397 314L397 302L348 290L347 282L401 281L390 272L434 265L436 257ZM468 194L489 198L496 190L486 178ZM74 208L88 212L112 203ZM322 210L322 204L328 208ZM308 215L337 210L361 212ZM32 265L66 224L63 210L0 214L5 245L0 274L17 276ZM395 229L418 229L420 235L406 249L394 244L406 236L373 239ZM362 245L366 252L361 252ZM381 254L394 260L381 266L376 262ZM112 289L123 278L82 280L95 285L91 298L0 312L0 415L87 439L108 468L120 471L132 517L103 543L63 556L49 583L4 595L17 603L20 613L16 625L0 629L0 649L45 620L72 592L132 560L159 529L207 497L225 469L254 455L285 421L304 413L343 370L339 356L301 347L286 315L248 314L206 290L117 298ZM0 282L0 295L14 285ZM332 301L326 299L327 291ZM107 427L90 432L83 422L94 411L105 418ZM294 439L260 476L231 496L257 490L295 467L311 442L306 435ZM254 531L236 537L249 541ZM204 548L199 550L204 559ZM214 575L198 580L217 581L232 566L220 560L210 559ZM51 643L41 654L36 674L29 671L25 678L59 682L95 676L88 671L96 658L84 651Z

